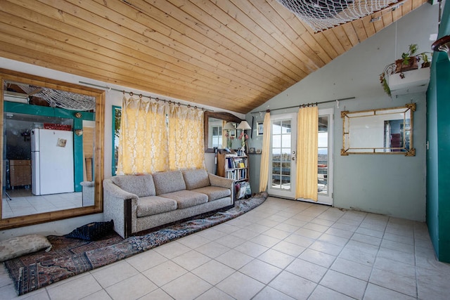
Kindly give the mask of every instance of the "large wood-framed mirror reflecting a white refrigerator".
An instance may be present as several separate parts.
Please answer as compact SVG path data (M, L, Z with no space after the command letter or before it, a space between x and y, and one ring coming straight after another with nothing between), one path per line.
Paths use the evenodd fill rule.
M0 69L0 229L103 211L105 92Z

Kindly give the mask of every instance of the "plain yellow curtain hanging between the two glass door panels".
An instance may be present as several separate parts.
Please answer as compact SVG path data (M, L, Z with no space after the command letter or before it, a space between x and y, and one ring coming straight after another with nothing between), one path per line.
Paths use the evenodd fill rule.
M317 139L319 109L300 108L297 117L297 188L296 198L317 201Z

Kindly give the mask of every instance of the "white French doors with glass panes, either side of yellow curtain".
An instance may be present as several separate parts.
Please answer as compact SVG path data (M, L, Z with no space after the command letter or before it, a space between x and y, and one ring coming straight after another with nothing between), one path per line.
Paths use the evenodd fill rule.
M317 138L317 203L333 205L333 108L319 110ZM295 199L296 147L297 114L271 116L269 195Z

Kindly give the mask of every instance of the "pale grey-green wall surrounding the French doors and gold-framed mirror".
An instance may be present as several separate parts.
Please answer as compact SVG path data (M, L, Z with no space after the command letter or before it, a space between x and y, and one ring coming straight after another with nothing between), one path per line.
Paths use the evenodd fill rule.
M385 65L393 63L402 52L408 50L409 44L418 44L419 53L431 52L430 34L437 33L438 11L437 5L420 6L254 110L274 110L302 103L356 97L354 100L341 101L339 107L335 103L319 105L319 109L334 107L335 207L425 221L425 93L390 98L380 86L379 76ZM413 127L415 157L340 155L342 110L396 107L411 102L417 103ZM271 114L296 110L274 110ZM248 114L247 120L251 122L252 117L255 117L255 122L263 119L257 113ZM250 147L261 148L262 138L255 138L255 131L253 136ZM255 178L259 176L259 159L250 157L254 190L259 182Z

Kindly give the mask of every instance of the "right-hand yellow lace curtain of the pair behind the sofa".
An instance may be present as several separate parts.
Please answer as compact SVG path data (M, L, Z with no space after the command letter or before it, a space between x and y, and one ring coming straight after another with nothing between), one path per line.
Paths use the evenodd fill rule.
M169 169L205 169L203 110L170 106Z

